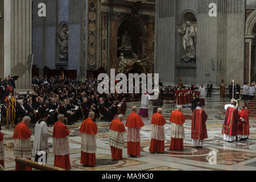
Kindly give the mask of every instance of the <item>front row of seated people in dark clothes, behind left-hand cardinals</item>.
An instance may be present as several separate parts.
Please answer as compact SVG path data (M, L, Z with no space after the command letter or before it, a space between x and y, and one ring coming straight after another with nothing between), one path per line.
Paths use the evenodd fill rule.
M39 101L36 104L33 103L32 100L19 100L16 104L15 123L18 123L18 121L25 116L31 118L31 123L36 123L44 113L47 113L49 115L47 121L48 126L54 125L57 121L58 114L64 114L68 119L68 125L73 125L73 123L79 121L79 119L88 118L90 111L94 111L97 117L99 117L100 114L104 115L105 121L111 122L114 116L118 113L118 105L122 110L123 106L126 108L125 100L123 100L125 102L115 102L112 101L110 97L107 97L105 101L102 98L97 101L93 97L88 101L88 98L84 97L82 101L81 105L75 105L72 102L69 102L68 99L64 99L61 102L56 99L53 99L50 102ZM2 118L6 118L7 104L1 105L0 107ZM94 119L94 121L96 120Z

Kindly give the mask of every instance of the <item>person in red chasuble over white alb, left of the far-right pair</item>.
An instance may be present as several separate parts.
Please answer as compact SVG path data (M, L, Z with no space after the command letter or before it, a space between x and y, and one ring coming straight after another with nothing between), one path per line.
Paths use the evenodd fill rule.
M238 134L238 121L240 119L238 110L236 109L237 102L233 101L232 105L226 109L226 117L222 127L223 139L227 142L234 142L234 137ZM226 107L226 106L225 106Z

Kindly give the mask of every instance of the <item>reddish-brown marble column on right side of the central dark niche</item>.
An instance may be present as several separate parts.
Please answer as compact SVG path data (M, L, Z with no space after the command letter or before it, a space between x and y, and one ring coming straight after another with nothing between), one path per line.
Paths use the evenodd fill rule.
M154 16L149 16L147 18L147 32L146 32L146 53L151 63L154 63L154 50L153 50L153 41L154 41L153 26L155 22L154 19L155 19ZM154 65L150 65L151 73L154 72L153 69L154 69Z

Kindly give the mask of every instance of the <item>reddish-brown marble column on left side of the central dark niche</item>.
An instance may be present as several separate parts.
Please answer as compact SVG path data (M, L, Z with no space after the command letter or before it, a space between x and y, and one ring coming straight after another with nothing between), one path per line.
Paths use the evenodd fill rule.
M118 69L117 60L117 19L118 13L110 13L110 69Z

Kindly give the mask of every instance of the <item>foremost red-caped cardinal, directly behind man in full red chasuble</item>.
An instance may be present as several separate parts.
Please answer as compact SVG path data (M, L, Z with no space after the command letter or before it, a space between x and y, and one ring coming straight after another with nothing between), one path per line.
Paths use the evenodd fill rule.
M171 144L170 150L184 150L183 139L185 138L185 131L183 124L185 123L185 116L181 113L182 106L177 106L177 110L172 111L170 121L171 124Z

